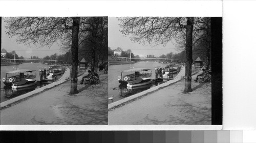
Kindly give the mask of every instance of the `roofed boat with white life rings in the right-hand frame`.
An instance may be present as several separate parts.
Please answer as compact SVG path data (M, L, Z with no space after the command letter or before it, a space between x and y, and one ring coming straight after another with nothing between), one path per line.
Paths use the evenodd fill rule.
M127 82L135 81L138 78L148 78L152 75L152 69L132 68L121 71L121 75L117 77L119 83L127 84Z

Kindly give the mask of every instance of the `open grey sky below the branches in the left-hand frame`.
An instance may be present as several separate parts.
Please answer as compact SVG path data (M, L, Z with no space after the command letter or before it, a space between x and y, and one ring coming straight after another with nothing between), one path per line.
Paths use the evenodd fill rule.
M16 42L15 38L10 38L6 34L6 23L2 20L2 49L6 49L7 52L16 51L18 56L23 56L25 58L31 58L31 56L38 56L39 58L43 58L45 56L50 56L54 53L63 54L59 51L60 47L56 44L53 44L50 49L48 46L40 47L40 46L26 46L24 44L19 44Z

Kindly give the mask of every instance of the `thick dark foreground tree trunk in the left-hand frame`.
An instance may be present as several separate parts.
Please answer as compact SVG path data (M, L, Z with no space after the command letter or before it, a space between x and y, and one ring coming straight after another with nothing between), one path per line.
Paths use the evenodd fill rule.
M80 17L73 17L72 26L72 70L71 70L71 87L70 95L78 93L77 90L77 66L78 66L78 34L79 34L79 22Z

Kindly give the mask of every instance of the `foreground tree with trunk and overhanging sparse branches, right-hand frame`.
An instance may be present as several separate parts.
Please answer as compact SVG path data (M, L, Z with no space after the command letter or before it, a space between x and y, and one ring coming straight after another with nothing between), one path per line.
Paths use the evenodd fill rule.
M184 92L191 92L191 63L194 17L124 17L121 32L132 35L131 40L142 44L166 45L180 35L185 35L186 73ZM185 34L184 34L185 33Z

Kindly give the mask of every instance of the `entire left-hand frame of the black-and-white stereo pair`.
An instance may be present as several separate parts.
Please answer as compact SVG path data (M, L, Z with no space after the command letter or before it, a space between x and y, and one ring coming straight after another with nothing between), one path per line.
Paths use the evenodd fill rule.
M1 125L108 125L108 17L2 17Z

